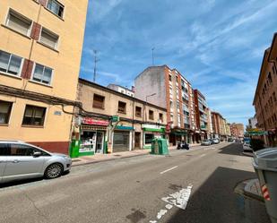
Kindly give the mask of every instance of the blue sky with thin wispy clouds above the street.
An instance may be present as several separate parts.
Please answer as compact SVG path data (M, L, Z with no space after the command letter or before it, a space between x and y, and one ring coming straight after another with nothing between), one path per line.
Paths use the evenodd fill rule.
M80 76L131 86L155 64L176 68L229 122L247 123L277 0L90 0Z

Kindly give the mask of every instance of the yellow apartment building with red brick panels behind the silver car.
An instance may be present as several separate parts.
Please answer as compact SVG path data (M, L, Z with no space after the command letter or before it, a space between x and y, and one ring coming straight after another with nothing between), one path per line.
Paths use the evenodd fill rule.
M68 153L87 5L1 0L1 138Z

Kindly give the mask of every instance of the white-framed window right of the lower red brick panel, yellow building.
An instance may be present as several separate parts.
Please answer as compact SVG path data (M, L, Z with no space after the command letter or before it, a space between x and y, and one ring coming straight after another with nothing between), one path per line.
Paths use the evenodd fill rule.
M36 64L32 75L32 80L50 85L51 79L52 79L52 73L53 73L53 70L51 68L41 64Z

